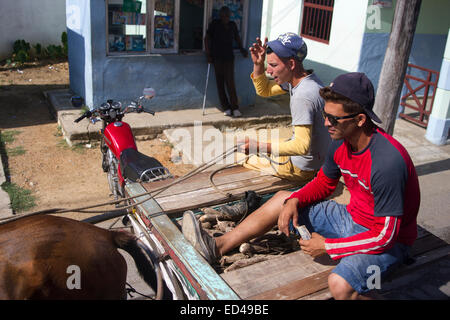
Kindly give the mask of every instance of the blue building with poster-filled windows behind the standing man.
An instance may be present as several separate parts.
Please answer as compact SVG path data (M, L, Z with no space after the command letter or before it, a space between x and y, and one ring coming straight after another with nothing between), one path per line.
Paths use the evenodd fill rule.
M201 108L208 66L202 39L222 5L232 9L248 47L260 32L260 0L66 0L71 89L90 107L129 101L153 87L156 111ZM254 103L251 70L251 59L237 50L241 106ZM213 68L206 105L219 105Z

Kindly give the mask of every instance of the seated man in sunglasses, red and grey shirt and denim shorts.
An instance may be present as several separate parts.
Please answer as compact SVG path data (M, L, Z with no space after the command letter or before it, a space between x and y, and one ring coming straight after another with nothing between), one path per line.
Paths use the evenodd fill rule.
M286 235L292 226L305 225L312 238L300 240L302 250L339 260L328 277L333 297L368 298L374 270L381 281L408 258L417 237L419 182L406 149L373 123L381 121L372 111L373 85L363 73L338 76L320 94L333 141L317 177L296 192L278 192L221 237L207 236L191 213L184 215L183 231L212 261L273 225ZM325 200L341 177L350 192L348 205Z

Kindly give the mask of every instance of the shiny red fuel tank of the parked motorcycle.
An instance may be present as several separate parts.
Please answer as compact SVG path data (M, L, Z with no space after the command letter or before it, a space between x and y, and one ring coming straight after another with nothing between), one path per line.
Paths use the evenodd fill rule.
M132 148L137 150L131 127L126 122L116 121L108 124L103 133L103 137L106 145L111 149L117 159L120 158L120 153L125 149Z

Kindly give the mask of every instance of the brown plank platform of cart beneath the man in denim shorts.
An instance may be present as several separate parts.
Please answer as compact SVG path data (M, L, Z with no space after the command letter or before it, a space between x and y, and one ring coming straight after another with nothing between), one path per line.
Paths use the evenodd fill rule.
M388 281L448 255L449 248L445 241L419 228L418 239L411 250L416 262L400 268ZM318 293L328 297L324 289L328 288L328 275L335 264L327 255L313 259L297 251L221 276L242 299L294 300Z

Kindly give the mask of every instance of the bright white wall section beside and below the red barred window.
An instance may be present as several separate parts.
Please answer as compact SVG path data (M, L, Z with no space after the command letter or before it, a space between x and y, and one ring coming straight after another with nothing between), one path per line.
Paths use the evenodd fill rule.
M348 72L358 69L368 0L335 0L329 44L305 39L307 59Z

